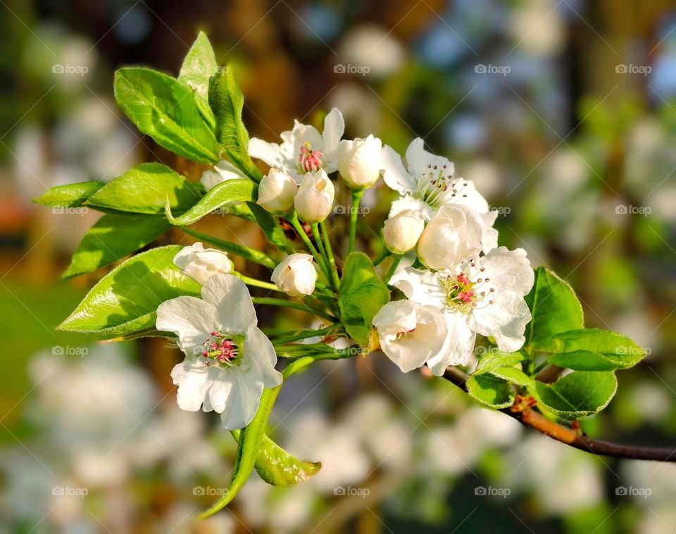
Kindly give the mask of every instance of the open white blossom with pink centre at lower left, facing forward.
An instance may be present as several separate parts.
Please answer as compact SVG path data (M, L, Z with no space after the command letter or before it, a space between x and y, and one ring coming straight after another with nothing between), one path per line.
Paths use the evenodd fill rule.
M263 389L282 383L275 349L257 323L249 290L231 274L211 276L201 299L182 295L159 305L156 328L175 333L185 353L171 371L181 409L214 410L229 430L251 422Z

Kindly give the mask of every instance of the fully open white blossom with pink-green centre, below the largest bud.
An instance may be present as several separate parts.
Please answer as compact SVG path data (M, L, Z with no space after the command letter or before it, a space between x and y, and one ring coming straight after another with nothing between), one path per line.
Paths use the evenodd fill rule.
M430 364L432 373L441 376L447 366L469 361L477 333L492 336L504 352L523 346L523 333L531 319L523 298L533 282L525 250L498 247L446 271L406 267L389 284L408 299L444 312L446 352Z

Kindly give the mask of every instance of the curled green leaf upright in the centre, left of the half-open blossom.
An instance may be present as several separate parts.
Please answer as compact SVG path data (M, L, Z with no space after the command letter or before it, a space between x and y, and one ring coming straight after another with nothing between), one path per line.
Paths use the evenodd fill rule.
M338 305L345 331L362 347L368 346L373 316L389 302L389 291L367 255L351 253L343 268Z

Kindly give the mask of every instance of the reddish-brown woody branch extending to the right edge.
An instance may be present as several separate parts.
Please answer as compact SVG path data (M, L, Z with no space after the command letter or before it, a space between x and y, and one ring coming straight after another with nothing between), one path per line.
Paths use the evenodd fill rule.
M458 388L465 391L465 393L467 393L467 385L465 383L467 378L468 376L457 367L449 367L444 373L444 379L452 382L458 386ZM618 458L676 462L676 449L632 447L630 445L620 445L618 443L595 440L575 432L568 426L563 426L546 419L542 414L539 414L532 409L531 402L517 402L511 408L505 408L499 411L516 419L522 425L530 426L530 428L534 428L538 432L542 432L544 435L549 436L554 440L584 452Z

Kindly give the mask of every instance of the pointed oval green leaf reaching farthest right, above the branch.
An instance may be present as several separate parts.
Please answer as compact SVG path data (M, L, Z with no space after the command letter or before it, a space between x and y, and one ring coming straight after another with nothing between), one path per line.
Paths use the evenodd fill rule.
M580 329L537 341L534 348L556 352L549 362L577 371L628 369L643 360L646 352L630 338L611 330Z

